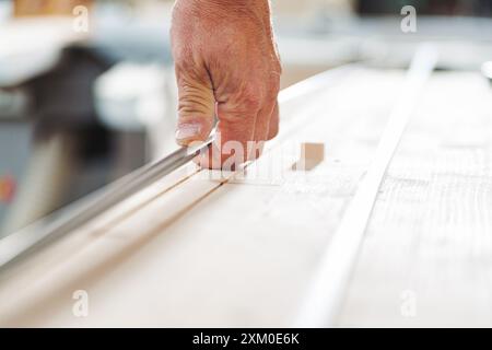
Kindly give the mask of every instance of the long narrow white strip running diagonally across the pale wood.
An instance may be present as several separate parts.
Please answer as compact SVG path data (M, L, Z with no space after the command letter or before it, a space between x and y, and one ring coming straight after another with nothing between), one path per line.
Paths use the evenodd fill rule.
M430 44L419 47L408 70L401 94L390 113L375 159L321 257L294 326L335 326L379 186L415 109L420 91L431 77L436 61L437 52Z

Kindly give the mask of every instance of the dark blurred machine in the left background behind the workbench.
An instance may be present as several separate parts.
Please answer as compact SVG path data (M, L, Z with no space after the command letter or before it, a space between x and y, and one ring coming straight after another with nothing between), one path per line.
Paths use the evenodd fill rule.
M8 147L2 147L1 166L16 184L2 206L9 215L3 232L107 182L116 136L97 120L92 85L108 67L86 48L67 47L48 71L3 89L1 142Z

